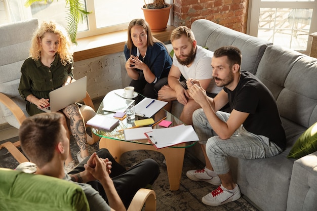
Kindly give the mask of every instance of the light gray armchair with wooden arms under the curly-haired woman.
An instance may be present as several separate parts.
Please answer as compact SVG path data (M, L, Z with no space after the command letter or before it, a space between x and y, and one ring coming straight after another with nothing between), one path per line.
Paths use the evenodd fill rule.
M17 129L28 116L25 109L26 102L18 92L20 70L24 60L29 56L31 38L37 27L37 19L0 26L2 37L0 40L0 111L3 112L5 120ZM95 109L88 93L83 101L86 105L81 107L81 111L87 122L94 115ZM87 138L89 144L99 140L99 137L94 134L93 137ZM19 146L20 141L6 142L0 145L0 149L7 148L19 163L28 161L17 148Z

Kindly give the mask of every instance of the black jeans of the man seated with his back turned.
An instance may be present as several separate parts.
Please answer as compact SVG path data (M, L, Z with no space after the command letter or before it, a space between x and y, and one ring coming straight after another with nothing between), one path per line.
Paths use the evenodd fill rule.
M117 163L107 149L99 149L96 153L98 157L108 158L109 161L112 162L110 177L112 178L114 187L126 208L129 207L136 192L140 188L146 187L148 184L152 185L160 174L159 164L153 159L145 159L126 171L126 168ZM72 175L83 172L85 170L84 164L87 163L89 157L78 164L68 174ZM99 181L91 181L87 184L90 184L97 190L102 198L108 203L106 193Z

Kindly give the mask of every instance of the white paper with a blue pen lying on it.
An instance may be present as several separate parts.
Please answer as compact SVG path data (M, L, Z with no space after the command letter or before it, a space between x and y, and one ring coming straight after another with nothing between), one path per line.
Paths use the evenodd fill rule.
M152 103L153 100L154 102ZM167 102L165 101L144 98L135 106L135 115L150 118L166 104Z

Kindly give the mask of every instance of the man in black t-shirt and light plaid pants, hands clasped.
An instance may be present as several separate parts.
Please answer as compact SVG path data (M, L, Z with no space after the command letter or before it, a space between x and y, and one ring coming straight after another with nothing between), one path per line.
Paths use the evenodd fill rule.
M271 157L286 146L282 121L271 92L253 74L241 71L241 51L222 47L211 61L213 78L223 90L210 98L199 81L190 86L189 95L201 105L193 113L193 125L205 156L203 170L191 170L187 177L220 185L202 198L217 206L240 198L233 182L228 156L245 159ZM189 83L187 82L187 85ZM219 111L229 103L231 113Z

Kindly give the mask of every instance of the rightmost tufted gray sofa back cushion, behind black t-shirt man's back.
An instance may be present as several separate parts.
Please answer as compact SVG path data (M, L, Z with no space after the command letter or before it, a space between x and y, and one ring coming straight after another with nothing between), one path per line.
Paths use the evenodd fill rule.
M273 94L280 115L306 129L317 121L317 59L281 46L266 48L256 76Z

